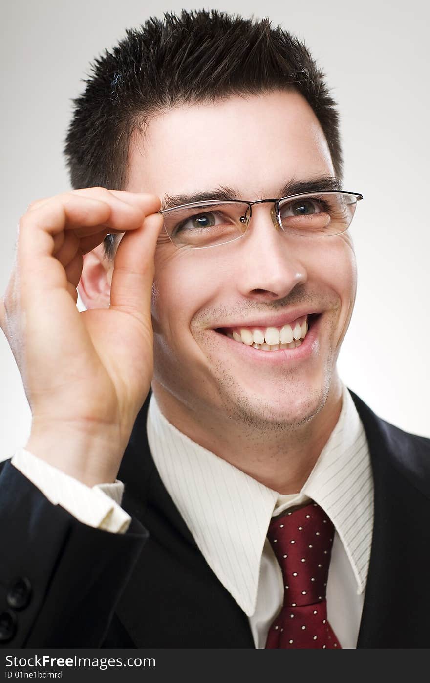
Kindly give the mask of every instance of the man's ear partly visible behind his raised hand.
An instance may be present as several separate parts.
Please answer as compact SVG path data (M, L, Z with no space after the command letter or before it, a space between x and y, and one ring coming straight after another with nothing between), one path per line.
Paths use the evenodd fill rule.
M113 262L104 258L103 244L84 254L78 292L87 309L109 308L112 273Z

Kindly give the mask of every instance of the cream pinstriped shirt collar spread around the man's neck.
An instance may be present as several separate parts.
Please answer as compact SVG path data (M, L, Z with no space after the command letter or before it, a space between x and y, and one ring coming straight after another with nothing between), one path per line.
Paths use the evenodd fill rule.
M260 562L271 517L313 499L339 534L357 582L365 588L373 527L373 479L367 439L343 385L339 420L301 492L283 496L179 432L151 396L151 454L170 497L219 581L254 614Z

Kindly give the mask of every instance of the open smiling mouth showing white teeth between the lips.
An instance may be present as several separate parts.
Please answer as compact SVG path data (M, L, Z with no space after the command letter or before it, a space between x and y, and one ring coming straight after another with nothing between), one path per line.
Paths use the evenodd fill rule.
M239 344L245 344L262 351L293 349L303 344L313 322L320 313L311 313L293 320L290 324L278 327L219 327L215 329Z

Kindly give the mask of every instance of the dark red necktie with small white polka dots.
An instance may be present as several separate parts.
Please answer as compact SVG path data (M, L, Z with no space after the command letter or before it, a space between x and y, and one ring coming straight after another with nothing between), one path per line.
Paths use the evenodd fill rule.
M326 585L335 529L317 503L272 519L271 542L283 578L283 606L266 647L341 648L327 621Z

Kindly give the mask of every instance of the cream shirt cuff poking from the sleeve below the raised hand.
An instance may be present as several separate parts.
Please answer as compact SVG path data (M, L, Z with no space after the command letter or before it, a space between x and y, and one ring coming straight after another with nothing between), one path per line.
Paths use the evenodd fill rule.
M112 533L125 533L132 518L120 507L124 486L97 484L90 488L78 479L53 467L20 448L12 464L46 496L53 505L61 505L82 524Z

